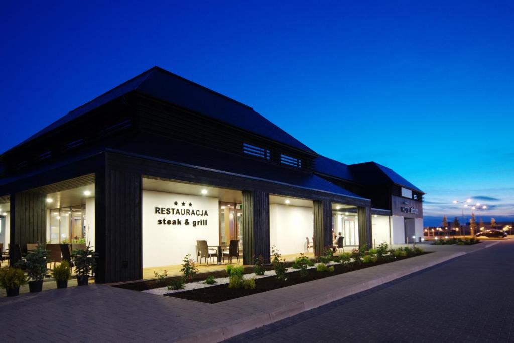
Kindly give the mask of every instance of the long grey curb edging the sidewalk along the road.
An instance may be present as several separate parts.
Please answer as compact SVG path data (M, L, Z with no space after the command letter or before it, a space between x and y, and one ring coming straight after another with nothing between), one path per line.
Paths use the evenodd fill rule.
M460 251L455 252L454 254L442 256L433 260L426 261L424 263L417 264L410 268L403 269L399 272L391 273L385 277L378 277L376 279L372 279L369 281L365 281L361 284L358 284L349 288L340 288L331 293L324 293L322 295L316 295L311 298L307 298L303 301L293 301L285 306L280 306L279 308L273 309L273 311L264 311L260 314L254 314L251 316L247 316L245 318L240 318L235 321L231 321L229 323L225 323L222 326L212 327L210 329L202 330L200 332L196 332L193 335L188 337L180 337L176 341L184 342L184 343L193 343L197 341L201 342L219 342L229 338L232 338L237 335L241 335L245 332L260 328L262 326L271 324L273 322L286 319L297 314L300 314L305 311L309 311L319 306L331 303L336 300L340 300L342 298L370 290L373 287L379 286L381 284L393 281L395 279L399 279L403 276L419 272L419 270L423 270L434 265L443 263L445 261L449 261L459 256L463 256L466 254L470 254L475 251L479 251L488 247L491 247L495 244L500 243L499 241L495 241L489 244L486 244L480 248L476 248L472 251ZM379 267L379 266L377 266ZM371 267L373 268L373 267Z

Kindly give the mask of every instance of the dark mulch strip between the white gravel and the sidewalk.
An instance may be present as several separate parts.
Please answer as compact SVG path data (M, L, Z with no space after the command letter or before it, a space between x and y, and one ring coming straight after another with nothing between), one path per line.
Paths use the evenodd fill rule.
M420 256L420 255L424 255L424 254L429 254L429 252L423 252L423 254L419 254L416 256ZM300 277L300 272L287 273L287 280L285 280L285 281L279 280L274 276L270 276L270 277L266 277L266 278L256 279L255 280L256 287L254 290L245 290L244 288L232 289L232 288L228 288L228 284L223 284L223 285L218 285L218 286L199 288L197 290L192 290L192 291L169 293L169 294L165 294L165 296L214 304L217 302L246 297L248 295L267 292L267 291L271 291L271 290L277 290L278 288L292 286L292 285L295 285L298 283L323 279L323 278L331 277L334 275L352 272L353 270L368 268L368 267L372 267L372 266L379 265L379 264L395 262L398 260L405 260L408 258L410 258L410 257L396 258L394 260L384 261L384 262L361 263L360 265L351 264L350 266L336 264L336 265L334 265L335 270L333 273L317 272L316 268L311 268L311 269L308 269L309 274L303 278ZM225 276L226 276L226 273L225 273Z

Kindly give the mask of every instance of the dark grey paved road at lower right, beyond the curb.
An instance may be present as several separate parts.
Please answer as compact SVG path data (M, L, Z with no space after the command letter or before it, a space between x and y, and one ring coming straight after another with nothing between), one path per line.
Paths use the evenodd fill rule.
M229 341L514 341L513 287L508 239Z

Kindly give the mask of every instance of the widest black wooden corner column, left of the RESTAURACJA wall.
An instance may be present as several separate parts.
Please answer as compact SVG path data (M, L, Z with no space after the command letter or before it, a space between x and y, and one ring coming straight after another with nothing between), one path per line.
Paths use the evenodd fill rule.
M95 281L142 279L141 198L139 173L107 168L95 175Z

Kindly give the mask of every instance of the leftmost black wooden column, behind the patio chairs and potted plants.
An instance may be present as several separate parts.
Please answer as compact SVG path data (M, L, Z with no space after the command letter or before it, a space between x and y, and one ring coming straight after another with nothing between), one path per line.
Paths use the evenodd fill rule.
M11 194L11 244L46 242L46 195L36 193Z

